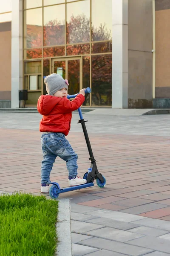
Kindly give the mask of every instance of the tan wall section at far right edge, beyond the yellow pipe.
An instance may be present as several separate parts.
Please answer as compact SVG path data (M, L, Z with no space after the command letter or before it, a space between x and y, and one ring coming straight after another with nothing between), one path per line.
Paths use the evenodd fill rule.
M170 98L170 0L155 1L156 98Z

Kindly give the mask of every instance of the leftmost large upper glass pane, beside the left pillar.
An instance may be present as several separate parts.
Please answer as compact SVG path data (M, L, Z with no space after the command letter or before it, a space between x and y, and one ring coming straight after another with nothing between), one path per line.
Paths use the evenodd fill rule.
M25 40L24 48L42 46L42 8L24 12Z

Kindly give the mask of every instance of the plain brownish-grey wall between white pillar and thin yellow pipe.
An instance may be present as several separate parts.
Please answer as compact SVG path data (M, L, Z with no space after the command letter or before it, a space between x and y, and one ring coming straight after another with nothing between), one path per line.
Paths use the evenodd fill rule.
M152 0L128 1L128 107L152 107Z

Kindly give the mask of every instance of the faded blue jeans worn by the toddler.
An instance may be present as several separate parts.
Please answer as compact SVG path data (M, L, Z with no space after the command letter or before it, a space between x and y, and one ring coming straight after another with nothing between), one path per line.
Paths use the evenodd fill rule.
M77 154L62 133L42 133L41 146L43 160L41 165L41 183L49 184L50 173L56 157L66 161L69 177L77 176Z

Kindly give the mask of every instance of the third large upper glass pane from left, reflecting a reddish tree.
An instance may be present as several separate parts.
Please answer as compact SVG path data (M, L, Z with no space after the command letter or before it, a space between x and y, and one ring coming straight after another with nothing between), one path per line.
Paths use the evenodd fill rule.
M90 0L67 4L67 44L90 41Z

